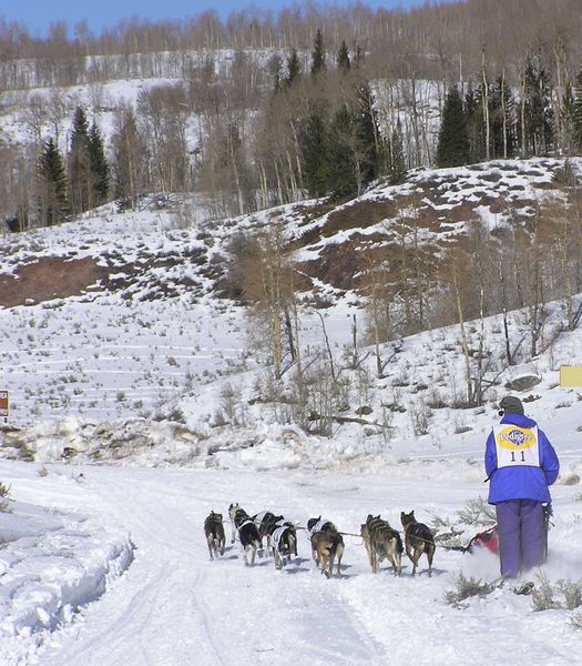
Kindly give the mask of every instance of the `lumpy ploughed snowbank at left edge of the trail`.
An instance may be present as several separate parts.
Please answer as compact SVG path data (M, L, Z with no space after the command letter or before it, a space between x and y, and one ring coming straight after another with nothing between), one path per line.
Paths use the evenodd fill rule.
M51 486L54 492L57 480L33 481L35 470L27 474L30 491L34 487L40 497ZM7 475L3 467L2 478ZM61 501L83 494L82 474L60 481ZM69 622L133 559L129 534L98 518L28 502L8 500L7 505L8 512L0 512L0 638Z

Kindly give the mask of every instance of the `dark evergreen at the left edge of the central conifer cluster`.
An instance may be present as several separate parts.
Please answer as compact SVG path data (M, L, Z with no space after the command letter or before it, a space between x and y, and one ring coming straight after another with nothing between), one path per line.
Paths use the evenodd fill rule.
M313 110L300 137L305 186L312 196L323 196L330 190L329 139L321 115Z

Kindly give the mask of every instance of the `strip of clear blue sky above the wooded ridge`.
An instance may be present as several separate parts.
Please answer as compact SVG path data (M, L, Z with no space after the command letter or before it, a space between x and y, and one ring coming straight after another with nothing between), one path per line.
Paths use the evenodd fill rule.
M426 0L363 0L368 7L417 7ZM0 0L0 17L7 21L23 23L29 32L35 37L45 37L49 26L59 20L64 20L71 28L79 21L86 19L89 28L98 33L104 27L111 27L123 18L139 17L157 21L162 19L183 19L192 17L208 9L215 9L222 18L232 11L241 11L248 7L261 7L277 11L283 7L292 7L297 2L284 0ZM302 4L302 3L298 3ZM336 4L340 2L316 2L316 4Z

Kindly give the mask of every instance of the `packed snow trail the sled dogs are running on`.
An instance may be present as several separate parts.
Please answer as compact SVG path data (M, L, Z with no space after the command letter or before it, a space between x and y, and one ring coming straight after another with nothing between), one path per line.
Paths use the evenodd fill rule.
M299 557L283 572L272 559L245 567L237 544L221 561L208 559L204 517L210 509L225 513L231 502L251 513L276 508L299 524L321 513L357 532L369 512L395 526L401 509L416 508L423 519L431 512L450 515L482 492L473 481L108 467L83 474L86 506L80 508L129 529L135 559L81 619L51 635L34 664L381 666L412 655L416 664L445 665L469 663L476 642L486 640L489 663L521 665L515 645L528 645L539 657L531 664L552 666L565 663L573 645L582 649L565 612L532 613L530 598L510 589L473 598L464 609L443 602L461 566L468 575L496 577L492 556L479 562L439 549L432 578L412 578L406 561L395 578L386 563L372 575L361 542L346 537L344 576L326 581L299 532ZM558 506L570 492L557 488ZM561 558L566 553L558 547L554 561Z

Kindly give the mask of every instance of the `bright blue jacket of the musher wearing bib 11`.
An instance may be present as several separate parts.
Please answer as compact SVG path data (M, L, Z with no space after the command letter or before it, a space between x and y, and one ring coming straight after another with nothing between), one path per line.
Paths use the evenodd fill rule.
M532 418L521 414L507 414L501 423L510 423L520 427L534 427L538 425ZM490 477L489 504L497 504L506 500L534 500L537 502L551 502L548 486L558 478L560 463L553 446L545 433L538 430L540 447L540 466L530 467L497 467L497 450L493 432L487 440L486 472Z

